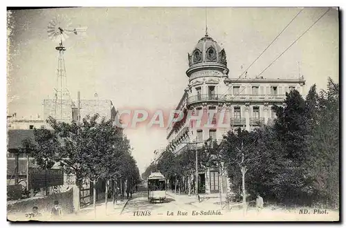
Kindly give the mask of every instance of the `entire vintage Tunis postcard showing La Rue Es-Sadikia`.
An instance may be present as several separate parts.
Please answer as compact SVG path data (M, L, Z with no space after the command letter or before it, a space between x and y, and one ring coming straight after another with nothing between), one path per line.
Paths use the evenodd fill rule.
M338 20L8 9L8 220L339 221Z

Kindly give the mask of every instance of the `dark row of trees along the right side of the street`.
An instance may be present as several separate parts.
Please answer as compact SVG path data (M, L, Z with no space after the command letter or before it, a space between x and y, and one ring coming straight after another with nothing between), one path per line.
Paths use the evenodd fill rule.
M228 131L221 143L198 151L199 169L224 167L237 197L260 193L285 205L338 207L339 202L339 86L328 79L327 91L311 86L304 99L286 93L282 106L273 106L273 124L255 131ZM174 155L165 151L143 178L161 171L181 180L195 171L194 149ZM189 190L190 192L190 190Z

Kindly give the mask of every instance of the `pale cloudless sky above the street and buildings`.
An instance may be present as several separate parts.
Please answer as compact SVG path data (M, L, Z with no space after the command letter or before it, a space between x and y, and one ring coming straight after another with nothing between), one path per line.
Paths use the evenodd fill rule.
M47 26L57 15L86 34L64 41L71 98L111 99L122 108L175 108L188 85L188 53L205 34L226 51L231 78L262 53L301 8L60 8L13 11L8 17L8 113L42 115L42 101L53 97L57 43ZM304 8L251 68L255 77L311 26L327 8ZM207 15L207 20L206 20ZM326 88L339 78L338 10L331 9L263 74L298 77ZM167 145L165 129L125 130L140 172L153 152Z

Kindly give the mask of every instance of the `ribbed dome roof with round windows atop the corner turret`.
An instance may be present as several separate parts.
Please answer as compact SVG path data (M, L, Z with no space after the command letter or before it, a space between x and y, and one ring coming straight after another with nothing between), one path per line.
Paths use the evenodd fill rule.
M188 61L189 66L205 62L216 62L227 66L225 50L208 34L199 39L192 53L188 54Z

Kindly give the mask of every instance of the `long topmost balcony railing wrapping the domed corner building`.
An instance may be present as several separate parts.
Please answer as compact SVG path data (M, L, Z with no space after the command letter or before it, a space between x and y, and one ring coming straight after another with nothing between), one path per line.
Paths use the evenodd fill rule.
M224 95L224 94L200 94L188 97L187 104L193 104L198 102L245 102L245 101L283 101L286 95L269 94L239 94L239 95Z

